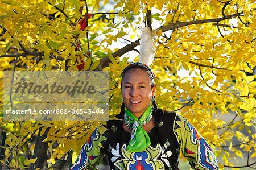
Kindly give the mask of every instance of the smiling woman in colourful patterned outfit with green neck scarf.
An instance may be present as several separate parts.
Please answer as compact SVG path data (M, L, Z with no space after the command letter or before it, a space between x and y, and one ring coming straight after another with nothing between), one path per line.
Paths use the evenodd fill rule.
M218 169L216 156L187 119L158 109L154 77L143 63L123 70L121 114L93 131L71 169L96 169L105 154L110 169L178 169L180 150L193 169Z

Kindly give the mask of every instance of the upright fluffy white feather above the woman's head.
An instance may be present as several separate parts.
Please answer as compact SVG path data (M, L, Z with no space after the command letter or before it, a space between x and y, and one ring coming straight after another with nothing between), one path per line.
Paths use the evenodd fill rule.
M150 66L154 61L154 40L149 27L144 27L141 31L141 39L139 40L141 47L139 52L139 62Z

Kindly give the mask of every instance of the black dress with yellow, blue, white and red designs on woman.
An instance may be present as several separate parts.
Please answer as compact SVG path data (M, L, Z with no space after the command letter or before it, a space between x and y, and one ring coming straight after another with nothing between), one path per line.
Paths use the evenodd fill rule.
M158 109L156 120L156 126L147 132L150 146L131 152L127 150L131 134L122 128L123 119L111 118L93 131L71 169L97 169L105 155L113 170L177 169L180 151L193 169L218 169L212 149L187 119Z

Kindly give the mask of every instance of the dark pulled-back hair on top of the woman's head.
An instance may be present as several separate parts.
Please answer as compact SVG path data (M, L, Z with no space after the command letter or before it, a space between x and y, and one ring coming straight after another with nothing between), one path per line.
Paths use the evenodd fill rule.
M135 68L139 68L139 69L146 71L147 77L150 79L150 82L151 82L151 87L153 87L155 85L155 82L154 82L155 74L152 71L152 69L144 63L136 62L136 63L131 63L130 65L127 65L126 68L123 69L123 72L121 73L121 76L122 76L121 89L122 89L123 77L125 76L126 72L129 71L130 69L135 69Z

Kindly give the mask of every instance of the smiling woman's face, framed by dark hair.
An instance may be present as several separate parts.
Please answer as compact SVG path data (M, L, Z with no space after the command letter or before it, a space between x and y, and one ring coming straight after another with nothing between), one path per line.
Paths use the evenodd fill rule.
M139 68L130 69L122 81L123 102L128 110L141 117L155 95L156 86L151 87L146 71Z

